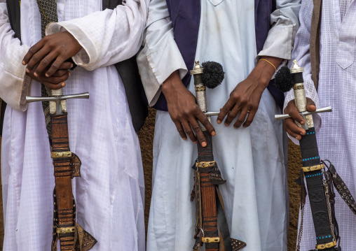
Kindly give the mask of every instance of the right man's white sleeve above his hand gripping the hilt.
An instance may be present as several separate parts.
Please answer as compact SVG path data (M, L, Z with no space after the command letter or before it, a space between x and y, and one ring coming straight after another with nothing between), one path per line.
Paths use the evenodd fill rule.
M313 1L302 1L301 11L300 11L300 22L298 32L296 33L296 39L294 42L294 50L292 52L292 59L298 61L299 66L303 67L303 78L304 78L304 89L306 91L306 96L312 99L317 108L320 108L319 99L317 97L317 91L314 87L314 82L311 78L311 67L310 67L310 22L313 13ZM289 62L289 68L292 67L292 61ZM294 100L293 89L287 92L285 96L285 104L283 110L289 103L289 101ZM322 120L320 115L313 115L315 131L319 131ZM299 145L299 141L296 138L288 137L295 143Z

